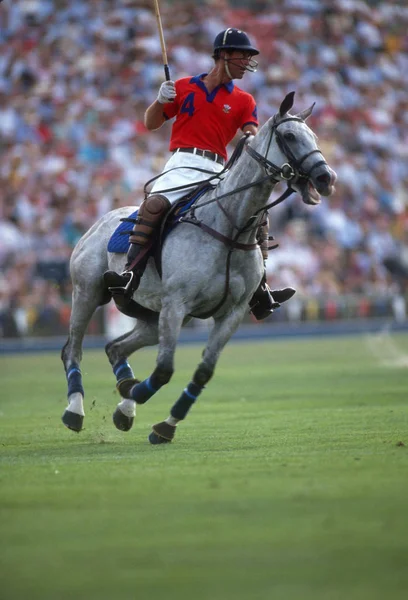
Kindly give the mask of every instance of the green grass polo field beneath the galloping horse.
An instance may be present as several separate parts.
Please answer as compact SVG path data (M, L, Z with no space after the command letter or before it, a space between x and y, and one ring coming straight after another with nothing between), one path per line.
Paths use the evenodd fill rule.
M0 357L1 600L405 600L408 336L230 344L150 446L201 350L129 433L103 352L80 434L58 353Z

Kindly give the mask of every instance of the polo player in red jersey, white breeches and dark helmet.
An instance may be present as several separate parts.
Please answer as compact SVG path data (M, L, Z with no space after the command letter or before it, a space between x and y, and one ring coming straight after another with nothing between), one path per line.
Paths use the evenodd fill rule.
M139 208L129 238L125 271L121 275L115 271L104 274L105 284L113 294L121 292L131 298L139 286L151 242L164 216L188 191L174 188L190 186L191 191L195 182L203 180L203 171L207 176L222 171L227 158L226 147L238 129L246 135L256 134L255 100L235 86L233 79L242 79L245 71L256 71L258 63L253 56L257 54L259 51L251 45L245 32L229 28L214 40L215 64L209 73L185 77L175 83L165 81L160 86L157 99L146 110L145 125L155 130L176 117L170 139L172 156ZM267 225L260 231L259 244L266 259ZM264 275L250 302L251 310L257 319L264 319L294 293L292 288L271 291Z

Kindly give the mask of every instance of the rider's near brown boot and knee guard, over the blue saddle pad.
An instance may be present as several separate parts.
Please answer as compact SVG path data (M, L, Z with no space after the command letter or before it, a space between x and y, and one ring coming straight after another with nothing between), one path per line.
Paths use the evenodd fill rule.
M161 194L149 196L142 202L129 237L125 270L121 275L115 271L106 271L103 275L105 285L113 294L121 293L130 297L139 287L155 235L170 206L170 201Z

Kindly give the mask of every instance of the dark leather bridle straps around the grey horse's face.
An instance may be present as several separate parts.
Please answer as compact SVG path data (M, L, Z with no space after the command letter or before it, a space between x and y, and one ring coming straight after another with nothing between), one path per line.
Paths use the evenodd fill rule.
M286 123L288 121L299 121L300 123L305 123L305 121L303 119L300 119L299 117L287 117L286 119L282 119L282 121L279 121L279 123L273 122L265 156L259 154L259 152L251 148L249 144L246 146L246 151L250 156L252 156L252 158L254 158L260 165L264 167L266 174L269 175L271 179L274 179L276 182L278 182L279 179L283 179L288 183L294 183L299 179L310 179L310 176L314 169L322 165L326 165L328 167L328 164L325 160L320 160L319 162L314 164L308 171L305 171L302 168L302 164L307 158L309 158L309 156L315 154L316 152L322 154L322 152L321 150L319 150L319 148L316 148L316 150L311 150L304 156L296 158L291 148L286 143L283 135L278 129L279 125L282 125L282 123ZM266 158L268 156L269 148L271 146L274 134L276 136L276 142L278 144L279 150L282 152L282 154L286 156L286 158L289 161L287 163L284 163L281 167L278 167Z

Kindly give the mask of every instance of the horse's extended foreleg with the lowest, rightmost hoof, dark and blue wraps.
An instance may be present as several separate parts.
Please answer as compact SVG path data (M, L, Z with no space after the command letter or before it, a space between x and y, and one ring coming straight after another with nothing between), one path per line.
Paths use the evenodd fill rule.
M201 394L204 386L210 381L224 346L238 328L246 310L247 306L244 305L239 309L235 308L234 311L222 319L214 319L214 326L203 352L203 360L198 365L193 379L173 405L170 416L166 421L153 425L153 431L149 436L149 441L152 444L171 442L176 432L177 423L186 418L187 413Z

